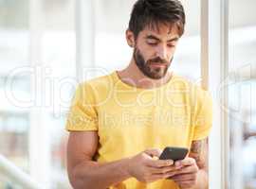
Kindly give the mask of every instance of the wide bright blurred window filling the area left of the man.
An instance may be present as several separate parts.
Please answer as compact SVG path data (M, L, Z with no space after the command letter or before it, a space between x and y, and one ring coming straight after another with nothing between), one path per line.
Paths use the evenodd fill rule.
M64 114L76 87L74 17L75 0L0 1L0 154L35 180L49 180L48 188L70 188ZM0 188L19 188L0 178Z

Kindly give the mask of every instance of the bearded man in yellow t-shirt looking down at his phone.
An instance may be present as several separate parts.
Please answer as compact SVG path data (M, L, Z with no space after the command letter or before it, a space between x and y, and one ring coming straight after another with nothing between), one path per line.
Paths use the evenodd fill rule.
M168 68L185 25L177 0L138 0L126 31L127 68L83 82L66 129L74 188L207 188L210 95ZM165 146L190 148L159 160Z

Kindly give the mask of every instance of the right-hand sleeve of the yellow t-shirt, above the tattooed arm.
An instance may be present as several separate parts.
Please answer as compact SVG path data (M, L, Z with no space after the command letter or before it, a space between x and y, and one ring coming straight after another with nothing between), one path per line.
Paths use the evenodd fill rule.
M194 114L193 141L209 136L212 126L212 98L209 92L200 91Z

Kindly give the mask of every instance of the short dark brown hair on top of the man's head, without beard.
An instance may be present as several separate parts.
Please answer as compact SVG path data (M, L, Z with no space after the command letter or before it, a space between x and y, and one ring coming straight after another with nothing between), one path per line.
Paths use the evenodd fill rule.
M146 26L158 29L159 24L176 26L182 36L185 13L181 3L178 0L137 0L129 22L129 30L135 38Z

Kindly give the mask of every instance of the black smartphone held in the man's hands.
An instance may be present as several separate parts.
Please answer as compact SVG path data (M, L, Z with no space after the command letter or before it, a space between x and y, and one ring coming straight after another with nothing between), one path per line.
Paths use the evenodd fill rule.
M171 147L167 146L164 148L161 153L159 160L183 160L189 152L189 149L186 147Z

